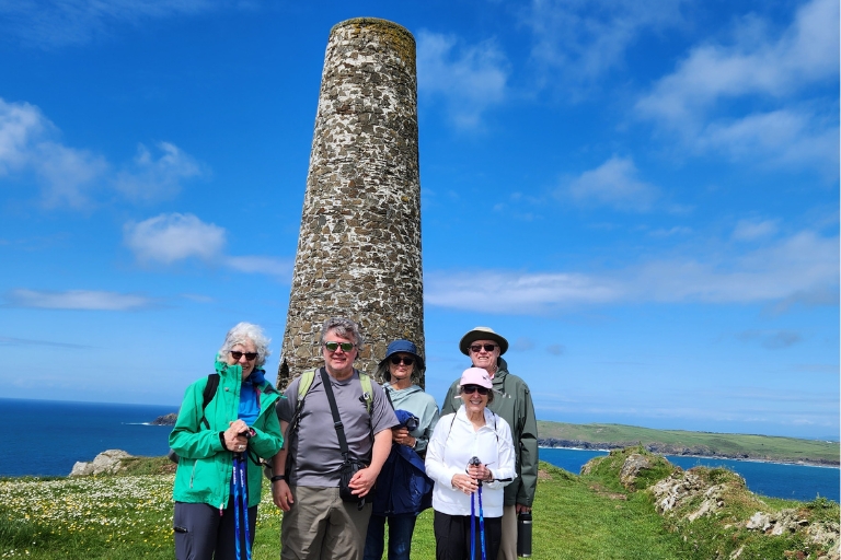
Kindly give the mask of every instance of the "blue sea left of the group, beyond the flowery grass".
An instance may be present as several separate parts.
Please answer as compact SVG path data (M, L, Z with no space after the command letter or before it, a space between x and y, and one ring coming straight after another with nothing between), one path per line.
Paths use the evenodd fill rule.
M165 455L172 427L145 425L174 406L0 398L0 425L21 445L0 453L0 476L67 476L105 450Z

